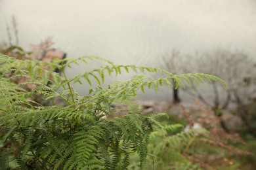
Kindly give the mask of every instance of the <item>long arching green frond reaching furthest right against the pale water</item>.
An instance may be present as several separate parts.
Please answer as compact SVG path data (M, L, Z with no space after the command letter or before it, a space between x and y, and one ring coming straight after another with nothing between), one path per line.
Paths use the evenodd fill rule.
M202 73L187 73L183 75L173 75L172 73L169 73L167 71L164 71L162 69L154 68L154 67L138 67L135 65L106 65L102 66L99 69L93 69L91 71L87 71L86 73L83 73L81 75L74 76L73 78L70 78L69 82L81 82L81 78L85 78L87 82L89 82L91 86L91 81L89 76L93 76L93 78L96 79L98 82L98 85L100 85L100 80L102 80L102 83L104 83L104 72L108 71L108 74L111 75L112 73L116 73L116 75L121 74L121 68L124 68L127 73L129 73L129 69L134 71L135 73L138 73L140 71L141 73L145 73L145 71L148 71L148 73L164 73L167 75L166 77L158 78L157 80L154 80L152 82L148 82L147 85L150 88L151 84L154 84L155 91L158 92L158 86L162 86L162 82L165 82L167 86L173 86L173 82L171 80L174 80L176 82L175 88L179 88L182 86L182 88L185 87L184 82L186 82L188 85L192 84L192 81L199 84L200 82L205 83L205 80L209 82L217 81L221 82L223 84L224 88L226 89L226 83L221 79L213 75L206 75ZM95 73L98 73L96 75ZM98 77L99 76L99 77ZM142 91L144 90L144 86L146 84L143 84L141 86Z

